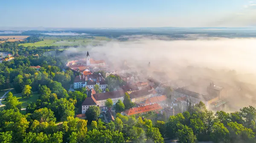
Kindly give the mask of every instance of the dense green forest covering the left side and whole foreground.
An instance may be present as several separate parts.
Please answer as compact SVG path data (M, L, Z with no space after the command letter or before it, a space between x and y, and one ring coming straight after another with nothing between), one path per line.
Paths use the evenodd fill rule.
M38 40L32 36L27 42ZM104 123L99 118L99 107L95 106L86 111L87 120L75 118L81 113L87 91L82 88L68 92L78 75L65 66L72 55L63 55L59 50L24 48L19 43L0 44L0 51L15 56L0 64L0 90L13 87L24 99L36 92L38 99L29 103L23 113L17 97L12 92L6 95L6 106L0 108L0 143L163 143L170 139L179 143L256 143L256 109L251 106L232 113L214 113L200 102L189 104L186 112L170 117L163 114L159 121L151 121L140 115L128 117L119 113L134 106L127 95L123 104L116 104L113 122ZM37 65L41 66L39 70L30 67ZM106 81L110 90L123 84L117 76Z

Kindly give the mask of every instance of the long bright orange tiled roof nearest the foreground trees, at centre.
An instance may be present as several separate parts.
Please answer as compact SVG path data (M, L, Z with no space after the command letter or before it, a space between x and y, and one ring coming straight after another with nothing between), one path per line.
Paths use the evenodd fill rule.
M159 110L163 109L159 104L151 104L151 105L146 105L146 106L141 106L141 107L134 107L131 109L128 109L125 111L125 114L127 115L134 115L134 114L139 114L143 112L149 112L149 111L154 111L154 110Z

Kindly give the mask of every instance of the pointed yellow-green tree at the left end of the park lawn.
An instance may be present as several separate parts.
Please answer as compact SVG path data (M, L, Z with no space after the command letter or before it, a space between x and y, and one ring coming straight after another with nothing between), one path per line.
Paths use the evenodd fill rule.
M21 109L21 102L19 102L16 96L13 96L11 92L7 94L5 109Z

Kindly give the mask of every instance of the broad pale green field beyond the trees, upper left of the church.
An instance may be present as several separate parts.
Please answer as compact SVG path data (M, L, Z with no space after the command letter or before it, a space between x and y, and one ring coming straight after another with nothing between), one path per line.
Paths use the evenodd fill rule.
M19 44L25 47L27 46L35 46L35 47L44 47L44 46L80 46L80 45L95 45L99 43L101 40L109 41L110 39L107 37L94 36L93 38L84 38L84 37L54 37L54 36L46 36L40 37L40 39L44 39L44 41L35 42L35 43L25 43Z

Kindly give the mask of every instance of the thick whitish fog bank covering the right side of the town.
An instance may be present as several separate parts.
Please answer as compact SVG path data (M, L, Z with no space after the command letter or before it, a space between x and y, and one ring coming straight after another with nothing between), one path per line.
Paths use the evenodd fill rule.
M89 50L91 58L104 59L113 68L121 67L126 60L131 71L152 76L172 87L206 93L206 87L213 81L227 91L229 111L255 105L256 39L135 39L112 40L83 49Z

